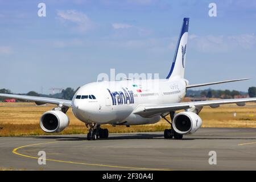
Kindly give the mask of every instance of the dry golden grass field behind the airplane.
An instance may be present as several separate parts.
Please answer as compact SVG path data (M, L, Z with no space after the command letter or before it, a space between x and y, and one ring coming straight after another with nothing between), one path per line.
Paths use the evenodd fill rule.
M36 106L32 102L3 103L0 102L0 136L47 135L39 126L41 115L55 105ZM236 117L234 117L236 113ZM74 117L71 109L67 112L70 125L60 134L86 134L85 124ZM256 127L256 104L250 103L243 107L224 105L216 109L204 107L199 114L203 119L202 127ZM163 131L169 124L162 120L154 125L110 126L110 133Z

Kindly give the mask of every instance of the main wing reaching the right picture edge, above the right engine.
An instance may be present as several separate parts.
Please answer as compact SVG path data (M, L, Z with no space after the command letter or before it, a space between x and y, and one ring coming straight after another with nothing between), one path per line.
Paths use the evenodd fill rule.
M195 101L195 102L180 102L176 104L168 105L140 105L135 109L134 114L141 115L142 117L152 117L154 115L160 115L169 113L170 111L189 109L195 107L197 110L201 110L204 106L218 107L223 104L237 104L238 106L244 106L245 102L256 102L254 98L236 98L236 99L224 99L224 100L210 100L210 101Z

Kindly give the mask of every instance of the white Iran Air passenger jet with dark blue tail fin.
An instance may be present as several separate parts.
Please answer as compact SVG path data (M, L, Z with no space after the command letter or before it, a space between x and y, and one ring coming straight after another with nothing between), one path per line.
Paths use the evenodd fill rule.
M201 127L199 113L204 106L244 106L246 102L256 102L256 98L181 102L188 88L249 79L189 84L184 78L188 26L189 18L184 18L171 69L164 79L92 82L81 86L72 100L17 94L0 94L0 97L34 101L36 105L57 105L40 118L40 127L46 133L59 133L69 125L65 113L71 107L75 117L88 127L88 140L108 138L108 129L101 129L101 125L147 125L161 118L170 123L170 129L164 130L164 138L182 139L184 134L193 134ZM178 110L184 111L177 113ZM166 118L168 114L170 121Z

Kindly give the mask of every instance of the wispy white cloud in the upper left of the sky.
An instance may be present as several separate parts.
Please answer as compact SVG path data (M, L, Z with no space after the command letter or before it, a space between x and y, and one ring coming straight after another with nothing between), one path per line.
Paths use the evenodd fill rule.
M88 31L93 29L94 23L88 18L88 16L80 11L76 10L65 10L57 11L57 16L65 22L72 22L77 24L79 31Z

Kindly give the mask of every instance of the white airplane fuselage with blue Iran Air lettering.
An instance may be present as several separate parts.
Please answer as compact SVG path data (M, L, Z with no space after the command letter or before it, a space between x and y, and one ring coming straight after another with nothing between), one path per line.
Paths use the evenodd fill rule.
M133 113L142 104L180 102L185 96L187 84L188 81L183 78L92 82L77 91L72 99L72 112L76 118L85 123L112 125L156 123L160 120L160 115L144 118Z

